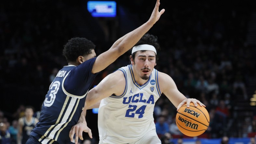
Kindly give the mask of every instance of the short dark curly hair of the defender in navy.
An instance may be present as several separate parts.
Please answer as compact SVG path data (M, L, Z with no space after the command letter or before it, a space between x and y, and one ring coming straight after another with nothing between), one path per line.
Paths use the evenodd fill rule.
M68 62L76 61L78 56L85 56L91 54L91 50L95 49L95 44L86 38L71 38L66 45L64 45L63 55Z

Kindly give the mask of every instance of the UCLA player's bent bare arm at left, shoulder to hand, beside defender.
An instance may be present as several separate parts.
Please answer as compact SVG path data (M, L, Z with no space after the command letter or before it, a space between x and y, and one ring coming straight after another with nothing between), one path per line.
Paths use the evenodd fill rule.
M74 134L76 134L75 143L78 142L78 137L83 140L83 131L87 132L89 137L92 138L91 129L87 127L87 123L85 121L86 110L92 108L95 103L112 94L121 95L124 91L125 84L123 73L118 70L109 74L96 87L88 91L83 112L81 113L77 124L70 130L69 136L71 141L73 141Z

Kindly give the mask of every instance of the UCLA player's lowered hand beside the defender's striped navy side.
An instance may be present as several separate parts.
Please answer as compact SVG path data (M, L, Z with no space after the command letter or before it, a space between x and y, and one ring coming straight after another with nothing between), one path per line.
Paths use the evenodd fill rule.
M75 137L75 143L78 143L78 138L83 140L83 131L87 132L90 138L92 137L92 131L91 129L87 126L86 121L84 120L83 122L77 122L75 126L73 126L69 132L69 138L70 141L73 141L74 134L76 135Z

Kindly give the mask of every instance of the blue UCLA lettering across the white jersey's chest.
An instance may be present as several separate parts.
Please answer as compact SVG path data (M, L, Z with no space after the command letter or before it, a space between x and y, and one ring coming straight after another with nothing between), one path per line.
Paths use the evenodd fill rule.
M128 100L127 100L128 98ZM132 96L129 96L129 97L124 97L123 98L123 104L129 104L129 103L134 103L134 102L144 102L144 103L150 103L151 104L154 104L154 96L151 94L147 99L145 99L145 97L143 97L143 93L137 93L137 94L134 94Z

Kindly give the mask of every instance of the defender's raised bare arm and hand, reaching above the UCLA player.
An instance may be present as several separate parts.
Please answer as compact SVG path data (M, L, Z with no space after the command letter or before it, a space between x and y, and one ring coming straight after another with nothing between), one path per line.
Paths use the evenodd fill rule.
M164 13L164 9L159 12L159 5L160 0L157 0L155 8L146 23L118 39L108 51L100 54L97 57L93 65L92 73L97 73L105 69L119 56L131 49L134 44L140 40L140 38L159 20L160 16Z

